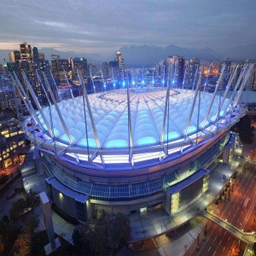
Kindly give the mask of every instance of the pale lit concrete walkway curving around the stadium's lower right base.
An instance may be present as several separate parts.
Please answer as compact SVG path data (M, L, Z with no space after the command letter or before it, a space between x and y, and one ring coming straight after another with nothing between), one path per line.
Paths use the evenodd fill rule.
M170 230L189 222L203 212L205 207L214 200L219 191L223 188L225 176L228 180L235 172L228 164L220 163L214 166L210 176L210 187L204 195L194 201L189 207L181 212L170 216L165 209L153 212L143 212L131 214L131 240L143 240L145 238L156 237L165 234Z

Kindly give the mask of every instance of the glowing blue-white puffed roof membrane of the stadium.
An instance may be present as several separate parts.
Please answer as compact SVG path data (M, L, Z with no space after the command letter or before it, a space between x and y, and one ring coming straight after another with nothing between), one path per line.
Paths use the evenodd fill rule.
M170 90L169 108L166 113L166 125L164 141L171 142L184 137L189 122L195 90ZM202 128L207 116L213 93L201 92L201 98L197 96L195 108L189 124L188 135L196 133ZM96 125L96 134L99 138L101 148L128 148L129 147L129 125L128 125L128 104L126 90L112 90L103 93L89 95L90 108L93 120ZM207 118L206 127L224 114L228 107L229 99L224 100L219 110L222 96L216 96L212 109ZM75 97L58 103L62 117L67 125L67 131L73 145L79 147L97 148L95 132L90 120L88 107L86 109L86 124L84 122L83 97ZM130 89L131 107L131 135L133 147L144 147L160 144L164 113L166 105L166 89L158 88L151 90ZM61 119L52 105L43 109L49 126L54 131L55 138L62 143L68 144L67 134ZM52 119L50 118L52 116ZM47 130L44 119L38 113L40 122ZM86 130L88 137L86 137Z

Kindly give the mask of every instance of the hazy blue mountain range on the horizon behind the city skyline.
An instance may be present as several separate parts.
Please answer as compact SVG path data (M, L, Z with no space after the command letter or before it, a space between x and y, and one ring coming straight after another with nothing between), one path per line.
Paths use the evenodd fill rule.
M223 58L230 58L231 61L241 61L246 58L256 59L256 44L241 45L223 51L215 51L210 48L183 48L174 44L167 47L158 47L154 45L142 46L125 46L120 48L122 57L125 59L126 67L152 67L155 63L165 60L168 55L182 55L186 60L191 57L198 57L201 61L219 61ZM9 61L9 52L11 49L0 49L1 62L5 58ZM108 57L100 54L76 53L73 51L60 51L53 48L39 49L39 52L44 53L45 58L50 60L50 55L61 55L61 58L68 59L69 57L84 57L88 62L101 65L102 61L112 61L115 57L115 52Z

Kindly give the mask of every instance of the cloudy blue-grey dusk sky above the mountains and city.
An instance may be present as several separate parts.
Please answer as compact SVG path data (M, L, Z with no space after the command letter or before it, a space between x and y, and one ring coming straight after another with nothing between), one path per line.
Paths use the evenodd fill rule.
M227 49L256 42L255 0L1 0L0 49L109 54L130 45Z

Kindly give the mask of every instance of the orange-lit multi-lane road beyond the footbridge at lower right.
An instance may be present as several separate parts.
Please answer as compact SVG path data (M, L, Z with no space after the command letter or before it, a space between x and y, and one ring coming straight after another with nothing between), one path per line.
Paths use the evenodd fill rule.
M256 204L256 165L244 166L235 183L233 191L230 192L230 201L229 193L226 192L226 200L218 205L214 213L243 231L256 231L253 221Z

